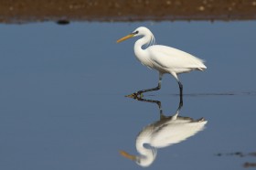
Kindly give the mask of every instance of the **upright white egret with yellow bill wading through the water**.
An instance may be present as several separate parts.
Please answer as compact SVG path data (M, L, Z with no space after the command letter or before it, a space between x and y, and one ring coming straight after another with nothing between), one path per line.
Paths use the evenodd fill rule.
M142 93L152 90L160 90L162 77L165 73L175 77L179 86L180 101L183 102L183 85L177 75L192 70L203 71L207 69L204 60L192 56L182 50L155 44L155 37L147 27L138 27L131 34L118 39L120 43L131 37L139 37L134 44L135 57L146 67L155 69L159 73L158 85L155 88L147 90L138 90L129 97L136 97Z

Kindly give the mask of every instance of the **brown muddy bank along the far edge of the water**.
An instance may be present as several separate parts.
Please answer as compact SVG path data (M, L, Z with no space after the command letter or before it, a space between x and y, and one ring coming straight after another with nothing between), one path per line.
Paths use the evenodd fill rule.
M256 0L12 0L1 23L38 21L254 20Z

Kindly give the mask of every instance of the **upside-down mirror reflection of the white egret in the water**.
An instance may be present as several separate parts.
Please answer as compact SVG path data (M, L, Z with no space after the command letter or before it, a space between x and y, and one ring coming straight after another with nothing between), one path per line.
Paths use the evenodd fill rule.
M178 116L182 107L173 116L165 116L162 112L161 102L135 98L138 101L155 102L160 110L160 120L144 127L136 138L136 149L140 155L128 154L120 151L124 157L135 161L138 165L149 166L155 161L156 149L180 143L188 137L195 135L204 129L204 118L193 120L189 117Z

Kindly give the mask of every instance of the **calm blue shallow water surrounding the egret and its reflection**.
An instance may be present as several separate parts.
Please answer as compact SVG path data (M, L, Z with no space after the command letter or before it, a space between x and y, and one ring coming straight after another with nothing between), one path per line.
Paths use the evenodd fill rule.
M204 117L206 128L157 149L147 169L243 169L256 163L255 21L54 23L1 25L0 168L141 169L119 154L138 154L135 140L159 121L155 103L124 95L155 87L157 73L133 57L135 39L116 44L139 26L156 43L207 61L204 72L180 75L179 115ZM144 94L176 113L178 86ZM236 153L242 153L243 156Z

